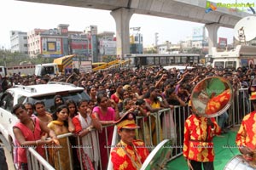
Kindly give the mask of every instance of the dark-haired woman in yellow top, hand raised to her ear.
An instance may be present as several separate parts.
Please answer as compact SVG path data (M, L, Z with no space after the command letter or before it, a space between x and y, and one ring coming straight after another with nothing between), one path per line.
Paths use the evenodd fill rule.
M53 121L49 122L48 127L49 129L53 130L56 135L64 134L64 133L73 133L74 126L72 119L68 116L69 111L67 105L60 105L57 107L55 113L53 114ZM73 169L72 163L68 158L68 153L72 153L70 150L70 146L68 145L68 138L61 138L59 139L61 147L55 150L54 147L50 148L51 156L50 159L54 162L55 169ZM60 164L58 156L60 156ZM72 156L72 154L70 155Z

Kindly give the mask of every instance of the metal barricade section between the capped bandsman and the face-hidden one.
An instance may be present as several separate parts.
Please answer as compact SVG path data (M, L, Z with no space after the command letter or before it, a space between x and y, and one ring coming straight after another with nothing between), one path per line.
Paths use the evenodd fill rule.
M174 159L183 153L183 128L184 121L188 116L188 106L178 105L175 105L173 109L151 113L148 117L137 116L137 124L141 127L138 129L137 139L143 139L148 150L153 150L163 139L170 139L173 146L172 159ZM155 117L154 121L152 121L152 117ZM147 121L145 121L145 118ZM153 142L152 133L154 129L152 128L152 122L155 123L156 144Z

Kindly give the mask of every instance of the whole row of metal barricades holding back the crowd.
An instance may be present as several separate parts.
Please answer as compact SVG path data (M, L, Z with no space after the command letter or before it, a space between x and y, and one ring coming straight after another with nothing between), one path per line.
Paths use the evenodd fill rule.
M241 119L243 116L245 116L247 113L251 111L251 103L248 100L247 96L247 89L239 89L236 94L234 94L234 100L232 105L230 105L229 110L227 111L229 114L228 119L228 126L233 127L235 125L238 125L241 123ZM184 129L184 122L186 118L189 116L189 106L178 106L175 105L172 109L163 109L158 112L151 113L149 116L137 116L136 122L141 127L137 130L137 139L143 139L146 146L148 147L148 150L151 151L154 149L154 147L159 144L163 139L170 139L172 141L173 145L173 151L172 151L172 158L175 159L177 156L181 156L183 154L183 129ZM216 117L218 121L218 117ZM100 150L100 143L99 143L99 137L105 138L106 141L108 141L108 127L110 126L104 126L102 128L102 132L98 132L96 130L93 130L92 132L96 133L96 141L97 141L97 150L96 153L99 156L98 162L94 162L94 166L96 169L102 169L102 159L101 159L101 152ZM105 136L102 136L105 135ZM80 143L79 137L77 138L77 145L73 146L69 143L68 138L73 136L73 133L65 133L62 135L58 135L58 139L64 139L67 138L67 145L70 148L74 147L90 147L90 146L84 146ZM115 144L119 142L119 137L117 134L117 131L115 131L115 134L113 134L113 141L112 144L109 146L108 143L104 148L107 148L107 156L108 156L108 162L110 158L110 150L113 148ZM69 149L70 149L69 148ZM46 150L46 159L44 159L42 156L38 155L38 152L34 150L33 148L29 148L27 150L27 156L28 156L28 164L29 169L49 169L52 170L54 167L52 167L49 164L49 154L48 150L45 147ZM68 156L66 156L69 160L73 160L72 153L69 151ZM77 157L76 157L77 158ZM81 150L79 150L79 160L82 160ZM58 161L60 162L60 155L58 155ZM82 161L80 162L80 167L83 169ZM70 161L70 167L73 169L72 161ZM97 168L99 167L99 168ZM108 166L108 169L111 166Z

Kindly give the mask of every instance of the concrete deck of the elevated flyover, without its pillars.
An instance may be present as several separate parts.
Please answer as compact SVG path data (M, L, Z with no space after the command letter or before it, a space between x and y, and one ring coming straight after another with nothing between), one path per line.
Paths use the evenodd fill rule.
M175 20L187 20L202 24L219 24L233 28L238 20L247 13L230 12L227 8L218 8L206 14L206 1L197 0L20 0L33 3L49 3L80 8L116 10L131 8L135 14L160 16Z

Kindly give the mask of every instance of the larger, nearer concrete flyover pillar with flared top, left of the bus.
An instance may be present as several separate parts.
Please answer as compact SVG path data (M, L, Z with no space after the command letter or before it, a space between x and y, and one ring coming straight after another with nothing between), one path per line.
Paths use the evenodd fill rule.
M116 48L119 59L124 59L124 54L130 54L130 19L133 10L129 8L118 8L111 11L116 24Z

